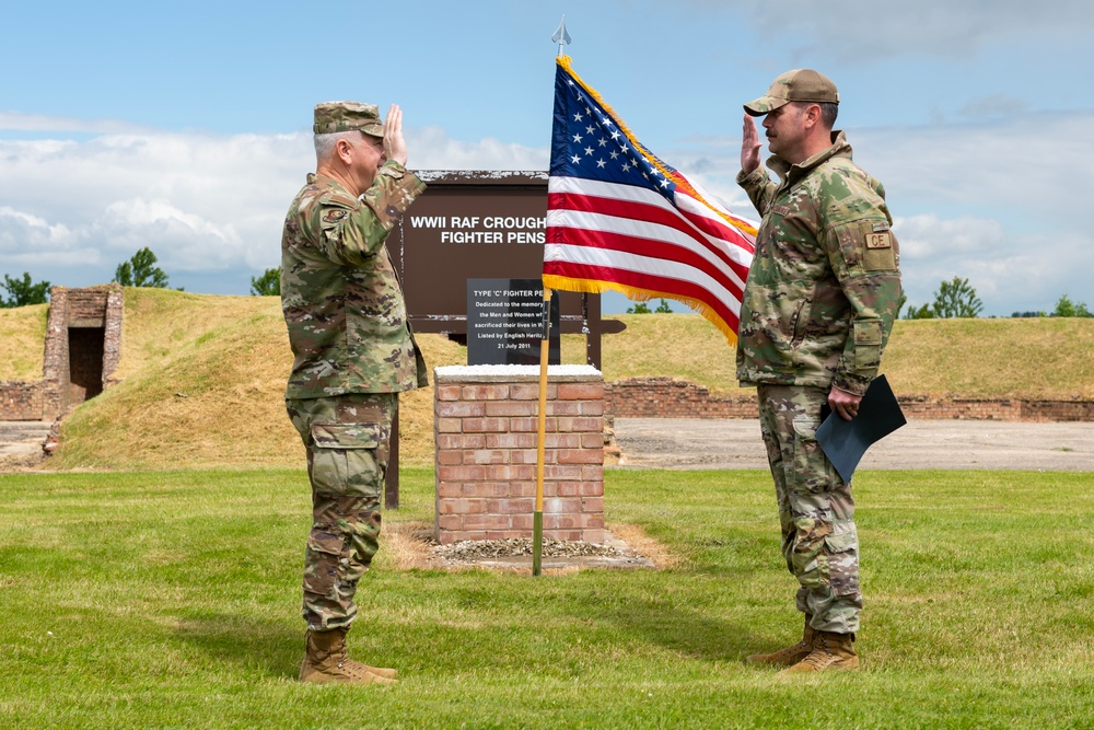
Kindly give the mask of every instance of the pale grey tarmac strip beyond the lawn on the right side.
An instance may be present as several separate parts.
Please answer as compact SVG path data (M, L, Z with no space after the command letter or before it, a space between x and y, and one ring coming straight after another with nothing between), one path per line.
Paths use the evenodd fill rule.
M616 418L624 468L768 468L759 421ZM913 420L860 468L1094 471L1094 424Z

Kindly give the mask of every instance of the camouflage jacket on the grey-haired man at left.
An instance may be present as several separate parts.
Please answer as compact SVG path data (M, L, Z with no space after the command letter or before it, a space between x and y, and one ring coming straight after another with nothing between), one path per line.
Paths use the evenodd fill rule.
M287 398L428 384L384 242L426 189L393 160L362 199L310 174L284 219L281 309L295 356Z

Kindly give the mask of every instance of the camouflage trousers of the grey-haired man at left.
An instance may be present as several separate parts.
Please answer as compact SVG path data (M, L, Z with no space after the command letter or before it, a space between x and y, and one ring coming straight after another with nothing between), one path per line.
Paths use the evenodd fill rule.
M348 627L357 583L380 547L380 499L396 393L287 399L307 450L312 531L304 555L307 627Z

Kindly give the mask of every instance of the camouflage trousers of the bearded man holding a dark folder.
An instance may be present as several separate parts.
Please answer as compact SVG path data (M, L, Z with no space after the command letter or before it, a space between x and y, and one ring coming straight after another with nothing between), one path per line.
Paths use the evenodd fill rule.
M782 555L800 583L798 610L813 615L817 630L852 634L862 610L854 500L815 434L828 391L760 385L758 394Z

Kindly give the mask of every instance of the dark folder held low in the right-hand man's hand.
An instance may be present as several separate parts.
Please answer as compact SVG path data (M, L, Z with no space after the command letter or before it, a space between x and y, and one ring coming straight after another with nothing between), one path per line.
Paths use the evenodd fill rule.
M828 412L827 417L825 412ZM822 408L822 417L824 422L817 428L817 442L848 484L866 449L908 422L885 375L870 383L859 404L859 413L851 420L843 420L827 404Z

